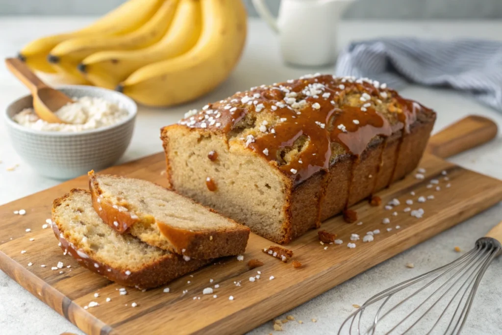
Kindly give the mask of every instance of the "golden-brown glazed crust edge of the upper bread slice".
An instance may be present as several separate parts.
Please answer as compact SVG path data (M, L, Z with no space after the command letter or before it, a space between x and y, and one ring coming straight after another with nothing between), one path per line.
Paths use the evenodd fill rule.
M129 229L129 232L136 237L136 230L133 226L151 226L157 225L159 234L158 239L142 239L143 242L169 250L178 255L184 255L195 259L211 259L224 256L233 256L243 254L249 238L249 228L237 224L232 219L226 218L218 214L212 208L205 207L222 219L230 220L235 224L233 229L218 229L214 228L207 231L190 231L187 229L179 229L169 225L169 222L156 221L151 215L136 215L131 211L120 211L118 206L113 204L106 198L102 197L102 191L99 188L99 183L96 180L94 171L88 173L89 188L92 196L92 205L99 217L113 230L118 233L124 233ZM119 178L123 178L117 176ZM162 187L162 186L159 186ZM182 196L182 195L180 195ZM192 203L193 200L189 199ZM98 202L99 201L99 202ZM127 207L127 203L124 203ZM200 204L197 204L202 206ZM139 213L138 213L139 214ZM130 229L131 227L131 229Z

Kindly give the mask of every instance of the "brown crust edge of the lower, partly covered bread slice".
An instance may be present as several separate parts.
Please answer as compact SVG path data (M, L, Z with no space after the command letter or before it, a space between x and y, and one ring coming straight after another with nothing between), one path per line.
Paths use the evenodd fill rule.
M75 192L84 192L89 194L86 190L72 189L70 193L55 199L52 207L52 229L56 239L58 239L61 243L61 249L69 253L84 268L87 268L88 270L118 284L146 289L167 284L168 282L189 272L195 271L212 261L190 260L187 262L179 255L167 253L156 261L145 264L140 270L129 271L130 273L128 274L127 270L116 269L93 259L90 253L86 253L84 250L79 249L78 246L75 246L65 238L66 232L62 230L60 222L54 215L56 208Z

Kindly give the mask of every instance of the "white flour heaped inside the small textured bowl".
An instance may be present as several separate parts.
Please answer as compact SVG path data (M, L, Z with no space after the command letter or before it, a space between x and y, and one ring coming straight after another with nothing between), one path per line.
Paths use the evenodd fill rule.
M49 132L81 132L114 125L128 116L127 110L98 97L74 98L56 111L56 116L68 124L47 123L41 120L33 108L26 108L13 120L27 128Z

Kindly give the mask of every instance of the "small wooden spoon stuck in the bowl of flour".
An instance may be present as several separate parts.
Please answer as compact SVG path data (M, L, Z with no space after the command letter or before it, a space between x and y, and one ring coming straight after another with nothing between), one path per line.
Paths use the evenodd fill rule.
M11 71L33 95L33 109L38 117L48 123L67 123L59 119L54 112L62 106L74 101L57 89L49 87L40 80L22 60L7 58L7 68Z

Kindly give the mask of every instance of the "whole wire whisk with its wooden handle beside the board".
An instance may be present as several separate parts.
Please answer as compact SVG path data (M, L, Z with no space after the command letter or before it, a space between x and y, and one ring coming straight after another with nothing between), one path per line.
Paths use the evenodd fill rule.
M343 321L338 335L346 326L360 335L460 333L484 272L502 250L499 241L502 222L459 259L369 298Z

